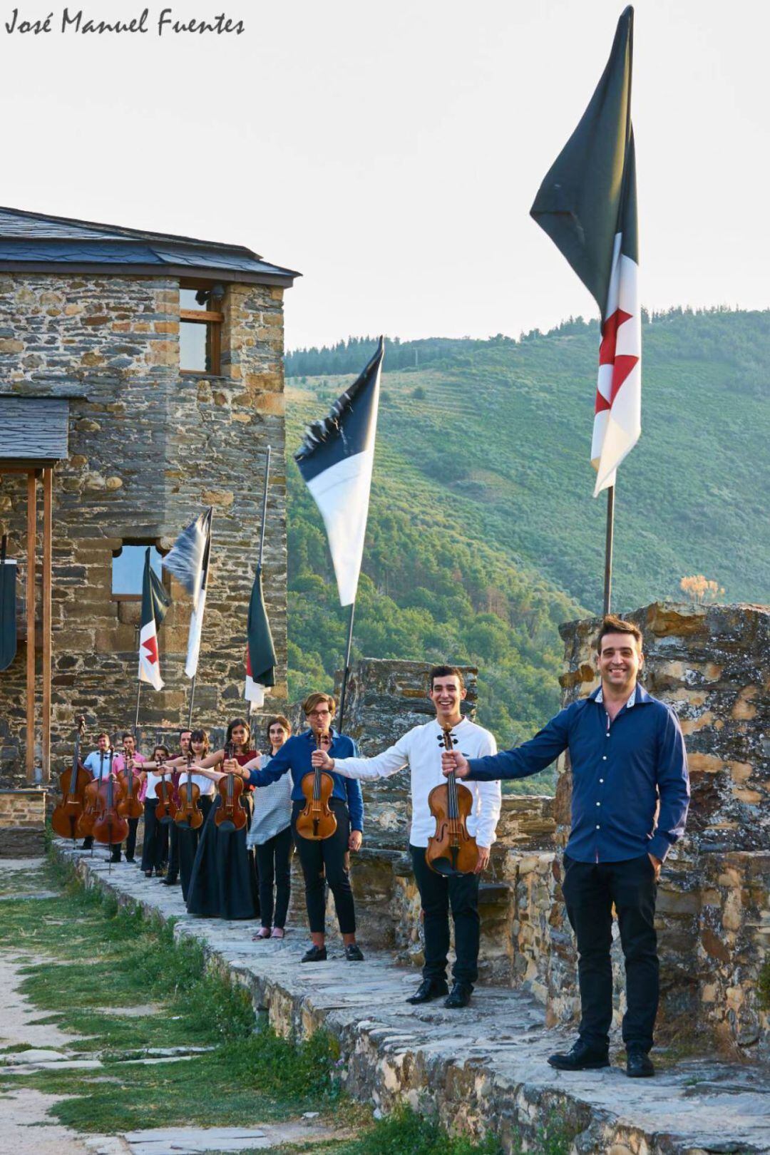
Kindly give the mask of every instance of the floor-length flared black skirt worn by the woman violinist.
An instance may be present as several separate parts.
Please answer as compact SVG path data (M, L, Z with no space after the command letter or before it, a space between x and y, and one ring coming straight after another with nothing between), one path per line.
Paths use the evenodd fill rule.
M251 817L251 796L247 808ZM247 827L217 826L217 798L201 830L187 887L187 910L205 918L255 918L257 895L252 852L246 845Z

